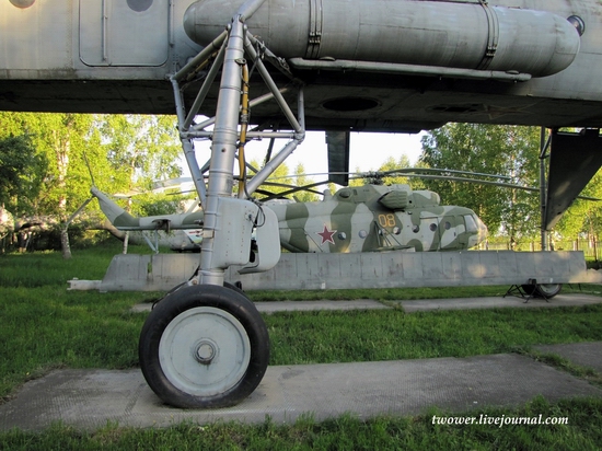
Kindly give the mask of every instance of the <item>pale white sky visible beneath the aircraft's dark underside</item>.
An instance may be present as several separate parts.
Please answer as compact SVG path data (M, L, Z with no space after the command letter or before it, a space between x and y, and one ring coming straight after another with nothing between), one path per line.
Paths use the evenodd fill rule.
M389 157L398 160L402 154L406 154L412 164L415 164L421 152L420 139L422 134L371 134L371 132L351 132L349 170L351 172L375 171L384 163ZM263 161L269 140L253 141L245 147L246 160ZM278 139L274 147L274 152L281 149L287 143L286 139ZM197 144L200 159L208 158L209 143L201 142ZM298 163L302 162L306 174L325 173L328 171L328 161L326 153L325 135L321 131L309 131L305 134L305 140L294 152L286 160L289 171L292 173ZM185 175L188 175L185 169Z

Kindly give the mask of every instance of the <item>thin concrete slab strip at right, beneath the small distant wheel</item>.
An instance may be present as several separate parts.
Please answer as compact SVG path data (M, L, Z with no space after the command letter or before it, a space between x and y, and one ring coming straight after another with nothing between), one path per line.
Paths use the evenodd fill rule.
M514 296L485 297L485 298L455 298L455 299L429 299L419 301L396 301L400 302L405 312L422 312L431 310L468 310L468 309L497 309L497 308L555 308L592 305L602 303L602 298L591 294L558 294L547 302L542 298L524 299Z

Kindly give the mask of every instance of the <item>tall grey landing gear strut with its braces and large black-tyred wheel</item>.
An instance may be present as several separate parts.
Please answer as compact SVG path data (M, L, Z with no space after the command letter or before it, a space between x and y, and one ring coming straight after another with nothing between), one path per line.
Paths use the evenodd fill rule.
M269 360L267 327L253 303L224 284L224 270L241 265L239 273L258 273L280 258L278 218L251 196L303 141L304 101L298 90L298 117L264 65L267 59L292 80L283 60L246 33L245 20L265 2L246 0L227 30L171 77L184 155L204 210L202 247L198 285L176 289L149 315L139 342L142 373L165 403L177 407L227 407L248 396L259 384ZM252 65L251 70L248 65ZM256 70L268 93L248 97L250 73ZM221 71L216 115L195 118ZM202 74L202 77L201 77ZM201 81L200 88L192 81ZM199 88L186 107L184 91ZM248 109L275 101L290 130L247 130ZM248 132L247 132L248 131ZM244 146L251 139L283 138L288 143L251 180L246 177ZM208 182L193 140L211 140ZM238 196L232 196L234 160L239 160ZM252 246L252 240L254 245ZM253 253L253 254L252 254ZM253 255L254 258L251 258Z

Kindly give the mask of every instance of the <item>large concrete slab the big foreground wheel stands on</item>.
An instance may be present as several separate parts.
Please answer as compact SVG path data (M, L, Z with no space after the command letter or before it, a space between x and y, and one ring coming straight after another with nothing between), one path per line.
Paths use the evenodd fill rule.
M602 390L524 356L494 355L269 367L257 390L238 406L183 410L162 404L139 370L59 370L27 382L0 406L0 430L40 430L58 420L94 429L107 421L131 427L261 423L266 415L291 423L304 413L317 420L344 413L369 418L420 414L431 406L453 413L518 406L540 394L554 402L602 397Z

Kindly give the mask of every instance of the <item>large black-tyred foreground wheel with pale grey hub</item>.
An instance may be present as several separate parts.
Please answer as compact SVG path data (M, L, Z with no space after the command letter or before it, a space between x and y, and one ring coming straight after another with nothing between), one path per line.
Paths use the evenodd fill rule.
M201 285L184 287L157 305L142 327L138 351L144 379L165 403L228 407L262 381L269 337L245 296Z

